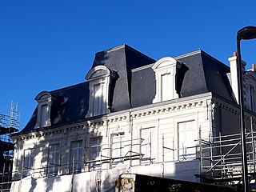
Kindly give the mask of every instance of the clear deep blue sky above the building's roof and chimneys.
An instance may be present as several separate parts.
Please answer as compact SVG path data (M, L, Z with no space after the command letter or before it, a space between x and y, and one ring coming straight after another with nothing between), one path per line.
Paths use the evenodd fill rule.
M221 62L236 32L256 26L256 1L0 1L0 113L18 102L26 126L42 90L85 81L101 50L126 43L159 59L202 49ZM256 41L242 42L247 66Z

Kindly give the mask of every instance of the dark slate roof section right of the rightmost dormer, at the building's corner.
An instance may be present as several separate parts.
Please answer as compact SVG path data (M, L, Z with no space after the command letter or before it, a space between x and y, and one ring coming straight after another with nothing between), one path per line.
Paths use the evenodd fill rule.
M234 101L232 88L227 78L230 67L213 58L202 50L178 58L189 70L182 84L182 97L212 92Z

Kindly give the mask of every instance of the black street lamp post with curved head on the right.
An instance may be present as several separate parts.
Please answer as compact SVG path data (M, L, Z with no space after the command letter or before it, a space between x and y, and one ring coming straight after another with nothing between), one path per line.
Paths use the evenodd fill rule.
M245 192L249 191L248 182L248 167L247 167L247 154L246 154L246 127L244 121L244 96L243 96L243 82L242 82L242 63L241 63L241 40L249 40L256 38L256 27L246 26L237 33L237 49L238 49L238 87L239 87L239 97L238 102L240 106L240 127L241 127L241 144L242 144L242 184L243 190Z

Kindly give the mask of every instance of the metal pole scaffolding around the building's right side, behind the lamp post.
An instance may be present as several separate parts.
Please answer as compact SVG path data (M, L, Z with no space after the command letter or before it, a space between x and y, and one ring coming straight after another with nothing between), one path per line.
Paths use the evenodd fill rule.
M242 153L240 134L230 134L200 140L201 175L203 182L222 182L238 185L242 182ZM246 133L248 176L256 184L256 132Z

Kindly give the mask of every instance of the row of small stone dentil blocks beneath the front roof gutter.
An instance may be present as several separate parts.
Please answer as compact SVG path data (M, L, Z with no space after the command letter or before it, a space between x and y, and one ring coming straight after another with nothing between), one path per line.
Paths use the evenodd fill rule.
M158 105L156 106L149 106L146 110L134 110L134 111L127 111L125 113L118 113L116 115L108 114L105 118L96 118L90 121L85 121L79 124L70 125L70 126L62 126L58 128L53 128L52 130L35 130L34 133L25 134L22 136L18 136L17 139L30 139L31 135L34 135L34 138L40 138L40 137L46 137L48 135L54 135L59 133L69 133L70 131L74 130L89 130L90 127L98 127L98 126L106 126L109 122L129 122L131 119L138 119L138 118L146 118L148 116L154 116L158 114L168 114L173 113L174 111L178 110L187 110L187 109L193 109L198 106L202 106L203 103L207 102L207 99L211 98L210 95L206 95L205 97L199 98L199 99L190 99L186 102L171 102L166 105ZM218 102L216 102L218 103ZM221 104L219 104L221 105ZM230 112L235 110L230 110ZM21 137L21 138L19 138Z

